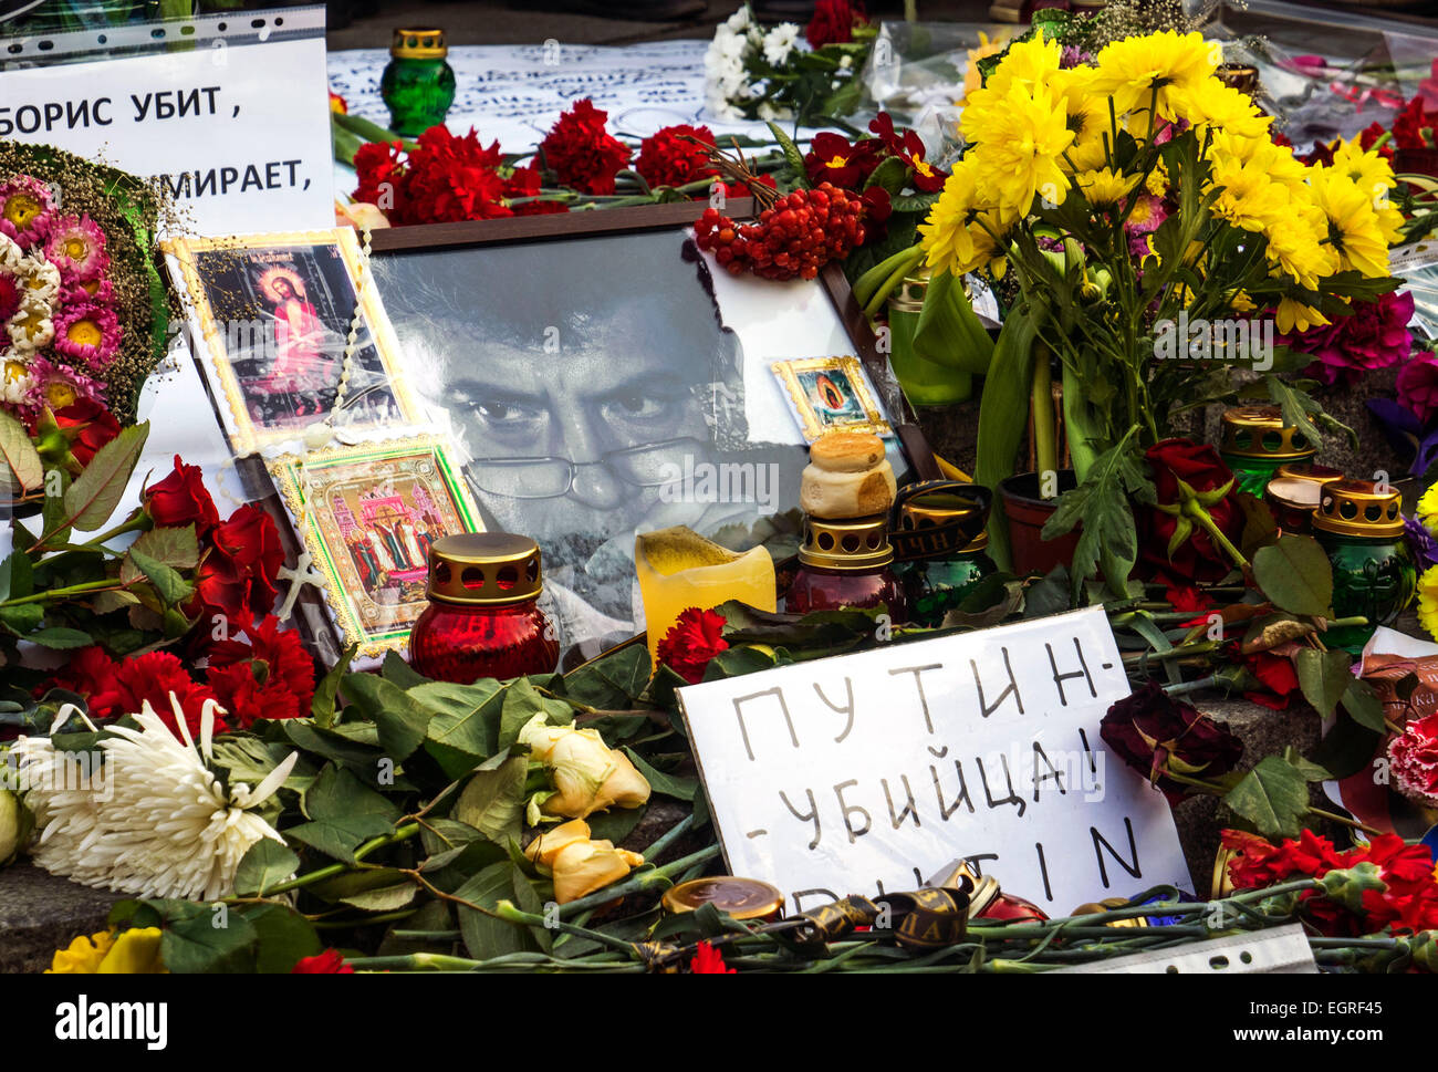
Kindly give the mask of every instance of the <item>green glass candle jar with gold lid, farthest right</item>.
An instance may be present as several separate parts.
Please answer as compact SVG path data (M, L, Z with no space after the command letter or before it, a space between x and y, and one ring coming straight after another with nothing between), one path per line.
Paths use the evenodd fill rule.
M1329 648L1357 655L1373 630L1392 624L1414 600L1418 567L1403 538L1401 498L1392 486L1372 481L1323 488L1313 535L1333 565L1333 616L1368 619L1363 626L1330 627L1323 635Z

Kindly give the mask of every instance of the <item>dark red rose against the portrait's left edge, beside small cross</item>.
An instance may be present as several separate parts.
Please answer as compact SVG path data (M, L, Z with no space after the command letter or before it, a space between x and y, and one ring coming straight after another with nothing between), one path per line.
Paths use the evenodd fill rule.
M232 629L247 629L256 614L275 606L279 590L275 581L285 561L279 545L279 530L259 507L244 504L230 519L210 534L213 545L196 574L196 607L209 622L200 632L211 629L213 619L223 614Z

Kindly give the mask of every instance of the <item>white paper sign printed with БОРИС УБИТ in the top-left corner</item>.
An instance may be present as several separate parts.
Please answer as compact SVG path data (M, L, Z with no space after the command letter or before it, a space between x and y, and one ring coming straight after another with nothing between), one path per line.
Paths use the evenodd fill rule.
M316 17L318 35L253 43L217 29L247 29L249 19L198 19L188 50L4 71L0 137L165 176L191 233L334 226ZM289 14L282 33L296 33L299 19Z

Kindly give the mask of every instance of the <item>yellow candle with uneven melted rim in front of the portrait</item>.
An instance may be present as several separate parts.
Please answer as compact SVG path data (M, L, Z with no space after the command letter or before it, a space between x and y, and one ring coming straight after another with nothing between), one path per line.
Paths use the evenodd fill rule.
M674 525L634 538L634 568L644 600L649 655L689 607L716 607L736 599L751 607L777 609L774 558L762 547L743 554Z

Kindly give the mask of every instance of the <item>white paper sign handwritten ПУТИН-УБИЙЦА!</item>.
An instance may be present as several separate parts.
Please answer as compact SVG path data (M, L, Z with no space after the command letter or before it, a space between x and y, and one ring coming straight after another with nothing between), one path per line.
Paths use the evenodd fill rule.
M1055 914L1189 888L1163 796L1099 738L1126 695L1099 607L679 689L731 873L791 911L959 856Z

